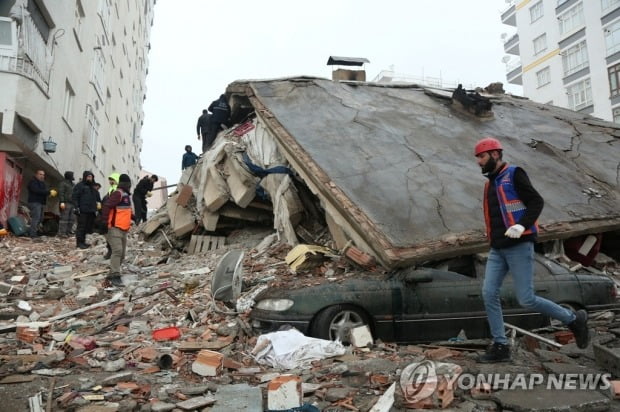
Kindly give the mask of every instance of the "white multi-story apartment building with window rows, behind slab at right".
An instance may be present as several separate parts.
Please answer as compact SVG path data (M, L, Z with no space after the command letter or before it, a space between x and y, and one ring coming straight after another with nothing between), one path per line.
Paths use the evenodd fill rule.
M620 123L620 0L506 0L507 81L536 102Z

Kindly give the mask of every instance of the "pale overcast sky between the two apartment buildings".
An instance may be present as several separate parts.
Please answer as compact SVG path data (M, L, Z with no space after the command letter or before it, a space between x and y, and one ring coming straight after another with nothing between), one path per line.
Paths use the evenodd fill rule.
M196 120L239 79L331 78L329 56L365 57L382 70L465 87L508 85L503 0L158 0L151 28L142 167L177 183Z

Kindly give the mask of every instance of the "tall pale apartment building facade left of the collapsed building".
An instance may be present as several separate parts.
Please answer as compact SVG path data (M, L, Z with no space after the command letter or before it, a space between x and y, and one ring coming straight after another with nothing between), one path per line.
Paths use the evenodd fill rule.
M36 169L137 182L155 1L0 3L0 222Z

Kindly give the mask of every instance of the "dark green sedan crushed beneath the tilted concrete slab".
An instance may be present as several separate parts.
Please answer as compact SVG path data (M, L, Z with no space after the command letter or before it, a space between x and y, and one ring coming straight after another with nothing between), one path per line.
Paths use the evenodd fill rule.
M536 256L536 294L587 311L618 307L615 283L607 276L571 272ZM374 339L413 343L446 340L461 330L470 339L489 336L482 302L484 256L451 259L434 267L386 275L360 273L338 282L301 289L269 288L256 297L250 317L259 333L290 325L302 333L349 343L352 328L368 325ZM512 290L502 287L504 319L525 329L549 319L523 309Z

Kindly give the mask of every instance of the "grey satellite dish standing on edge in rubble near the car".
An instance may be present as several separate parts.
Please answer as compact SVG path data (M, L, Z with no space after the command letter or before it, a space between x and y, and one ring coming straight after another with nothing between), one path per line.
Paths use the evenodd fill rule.
M211 278L211 294L214 299L236 301L243 284L242 250L231 250L222 256Z

